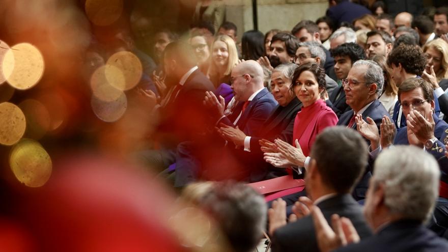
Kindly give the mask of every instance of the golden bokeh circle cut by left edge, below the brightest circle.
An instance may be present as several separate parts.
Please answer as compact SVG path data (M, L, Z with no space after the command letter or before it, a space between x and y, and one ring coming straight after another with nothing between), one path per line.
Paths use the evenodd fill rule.
M25 133L26 120L22 110L9 102L0 103L0 144L13 145Z

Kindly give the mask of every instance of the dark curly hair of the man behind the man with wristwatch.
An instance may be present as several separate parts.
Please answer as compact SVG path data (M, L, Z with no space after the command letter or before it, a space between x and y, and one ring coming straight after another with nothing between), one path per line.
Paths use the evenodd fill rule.
M390 51L387 57L387 65L398 64L404 68L407 73L422 75L426 67L426 57L420 47L412 45L399 45Z

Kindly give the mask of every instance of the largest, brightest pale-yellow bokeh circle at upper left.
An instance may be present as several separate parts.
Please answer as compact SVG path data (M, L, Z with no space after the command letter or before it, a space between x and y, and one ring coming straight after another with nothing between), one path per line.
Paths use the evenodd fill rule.
M20 90L30 89L42 78L44 58L30 43L16 44L6 52L2 70L11 86Z

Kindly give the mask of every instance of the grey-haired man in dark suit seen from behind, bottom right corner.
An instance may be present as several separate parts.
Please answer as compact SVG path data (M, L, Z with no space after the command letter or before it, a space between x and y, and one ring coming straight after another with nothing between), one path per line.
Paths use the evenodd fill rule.
M397 146L384 151L375 162L364 207L364 215L375 235L359 241L350 221L338 216L333 217L333 229L341 227L345 232L334 233L328 220L313 207L320 250L448 251L448 242L423 225L437 199L439 176L437 162L420 148ZM352 244L344 247L343 237Z

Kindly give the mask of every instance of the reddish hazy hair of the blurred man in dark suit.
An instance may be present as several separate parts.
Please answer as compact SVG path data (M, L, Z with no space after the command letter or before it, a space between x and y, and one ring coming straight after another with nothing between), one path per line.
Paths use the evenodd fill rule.
M175 58L179 64L185 68L191 68L196 65L196 58L191 45L183 41L174 41L168 44L163 51L164 57Z

